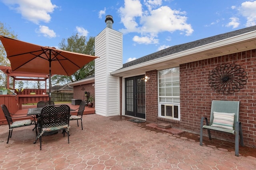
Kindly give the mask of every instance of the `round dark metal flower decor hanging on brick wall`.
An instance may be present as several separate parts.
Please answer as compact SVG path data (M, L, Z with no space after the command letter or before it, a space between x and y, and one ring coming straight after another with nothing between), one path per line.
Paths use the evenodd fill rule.
M233 94L244 87L247 73L237 64L221 64L210 72L209 84L218 93Z

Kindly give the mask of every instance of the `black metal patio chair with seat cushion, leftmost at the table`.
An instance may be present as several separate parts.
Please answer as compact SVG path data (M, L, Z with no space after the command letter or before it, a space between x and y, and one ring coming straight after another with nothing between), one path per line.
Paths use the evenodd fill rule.
M20 121L13 121L12 116L14 114L10 113L8 108L4 104L2 104L1 107L2 107L2 110L4 112L4 116L6 117L6 120L7 120L8 125L9 125L9 135L8 135L7 143L9 142L9 139L12 137L12 130L14 128L35 125L34 129L36 129L37 123L36 123L36 119L35 119L34 116L15 117L15 118L27 118L27 119L20 120ZM36 131L36 135L37 135L37 131Z

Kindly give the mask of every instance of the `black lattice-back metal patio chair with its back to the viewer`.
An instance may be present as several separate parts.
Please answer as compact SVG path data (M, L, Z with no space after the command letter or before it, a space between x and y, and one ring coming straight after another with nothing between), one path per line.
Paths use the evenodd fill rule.
M40 140L40 150L42 149L42 135L44 133L62 130L63 137L65 133L68 134L69 143L69 117L70 107L68 105L48 105L42 108L40 127L38 128L39 134L37 137Z

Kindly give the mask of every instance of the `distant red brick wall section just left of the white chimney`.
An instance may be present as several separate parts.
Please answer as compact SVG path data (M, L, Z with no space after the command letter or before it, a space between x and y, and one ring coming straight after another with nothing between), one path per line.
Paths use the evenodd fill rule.
M94 83L88 83L88 84L83 84L79 86L74 86L74 99L81 99L84 100L84 92L90 92L90 95L93 95L95 97L95 88L92 86ZM95 98L94 98L95 99Z

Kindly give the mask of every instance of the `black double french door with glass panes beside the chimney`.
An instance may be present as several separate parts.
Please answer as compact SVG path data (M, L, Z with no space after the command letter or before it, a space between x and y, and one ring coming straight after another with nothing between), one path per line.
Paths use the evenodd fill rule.
M125 114L146 118L145 75L125 79Z

